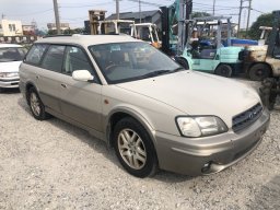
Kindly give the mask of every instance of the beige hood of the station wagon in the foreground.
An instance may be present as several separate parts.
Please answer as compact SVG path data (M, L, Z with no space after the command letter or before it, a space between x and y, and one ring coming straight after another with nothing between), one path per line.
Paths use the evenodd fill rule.
M229 126L233 116L260 102L257 92L241 82L195 71L180 71L117 86L160 101L187 115L219 116Z

